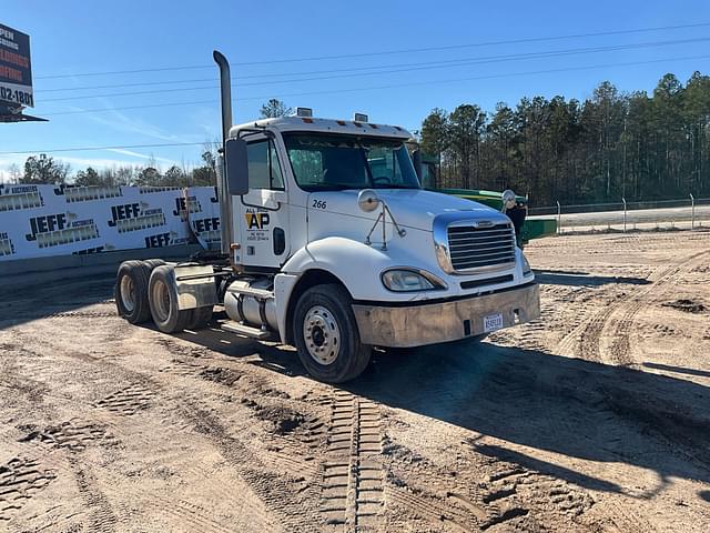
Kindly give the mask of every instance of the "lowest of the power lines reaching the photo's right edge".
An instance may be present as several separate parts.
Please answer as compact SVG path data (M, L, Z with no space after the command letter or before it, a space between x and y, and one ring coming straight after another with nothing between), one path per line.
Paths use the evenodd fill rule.
M606 64L592 64L586 67L569 67L569 68L560 68L560 69L547 69L547 70L534 70L534 71L525 71L525 72L509 72L501 74L488 74L488 76L478 76L470 78L455 78L447 80L435 80L435 81L422 81L422 82L412 82L412 83L397 83L397 84L388 84L388 86L376 86L376 87L362 87L355 89L335 89L335 90L326 90L326 91L311 91L311 92L296 92L296 93L284 93L284 94L267 94L261 97L246 97L240 98L235 100L235 102L241 101L257 101L257 100L266 100L270 98L291 98L291 97L311 97L311 95L320 95L320 94L339 94L345 92L361 92L361 91L374 91L382 89L395 89L395 88L406 88L406 87L416 87L416 86L428 86L428 84L438 84L438 83L456 83L460 81L476 81L476 80L487 80L487 79L498 79L498 78L515 78L521 76L535 76L535 74L547 74L547 73L558 73L558 72L570 72L570 71L584 71L584 70L596 70L596 69L608 69L615 67L636 67L641 64L655 64L655 63L665 63L669 61L694 61L698 59L710 59L710 54L703 56L687 56L679 58L667 58L667 59L652 59L648 61L629 61L622 63L606 63ZM100 109L85 109L78 111L60 111L57 113L43 113L45 117L57 117L57 115L65 115L65 114L84 114L84 113L99 113L99 112L109 112L109 111L128 111L134 109L150 109L150 108L168 108L168 107L181 107L181 105L197 105L197 104L210 104L217 103L217 100L191 100L186 102L173 102L173 103L158 103L158 104L145 104L145 105L129 105L122 108L100 108Z

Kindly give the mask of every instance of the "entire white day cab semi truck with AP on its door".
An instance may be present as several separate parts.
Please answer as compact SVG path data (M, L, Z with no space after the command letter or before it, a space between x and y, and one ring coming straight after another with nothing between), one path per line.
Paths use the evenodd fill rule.
M232 127L229 63L214 58L222 253L123 263L115 300L129 322L197 330L223 305L223 330L294 345L315 379L344 382L373 346L477 340L539 316L510 220L423 190L409 132L303 109Z

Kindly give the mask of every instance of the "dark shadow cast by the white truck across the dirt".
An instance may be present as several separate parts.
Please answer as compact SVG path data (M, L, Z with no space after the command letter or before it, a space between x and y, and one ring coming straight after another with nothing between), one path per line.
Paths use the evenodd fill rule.
M306 376L295 352L282 346L216 329L176 336L283 375ZM610 475L599 479L519 446L476 438L465 443L471 452L590 490L628 493L613 481L618 463L657 473L659 485L635 491L640 497L673 476L710 482L710 391L682 379L481 343L377 351L365 374L336 389L549 457L607 463Z

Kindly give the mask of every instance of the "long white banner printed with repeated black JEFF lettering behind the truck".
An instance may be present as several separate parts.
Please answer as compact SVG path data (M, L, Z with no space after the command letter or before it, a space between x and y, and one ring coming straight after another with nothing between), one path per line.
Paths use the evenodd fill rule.
M220 248L215 189L0 184L0 262L199 242Z

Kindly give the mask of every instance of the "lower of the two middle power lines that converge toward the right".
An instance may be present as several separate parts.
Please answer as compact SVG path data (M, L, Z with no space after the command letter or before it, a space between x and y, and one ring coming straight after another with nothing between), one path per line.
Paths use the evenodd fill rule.
M640 49L640 48L648 48L648 47L666 47L666 46L673 46L673 44L687 44L691 42L707 42L707 41L710 41L710 37L696 38L696 39L681 39L681 40L672 40L672 41L651 41L651 42L641 42L641 43L632 43L632 44L615 44L611 47L552 50L549 52L530 52L528 54L493 56L487 58L468 58L468 59L457 59L457 60L448 60L448 61L433 61L433 62L426 62L426 63L418 63L420 64L418 67L378 70L375 72L364 72L364 73L361 72L356 74L351 73L351 74L336 74L336 76L315 77L315 78L302 78L297 80L278 80L278 81L272 81L272 82L240 83L236 86L236 88L261 87L261 86L274 84L274 83L322 81L322 80L333 80L333 79L342 79L342 78L364 77L364 76L382 76L382 74L393 74L393 73L412 72L412 71L420 71L420 70L434 70L434 69L459 67L459 66L464 67L469 64L519 61L519 60L526 60L526 59L542 59L542 58L547 59L547 58L561 57L561 56L600 53L600 52L608 52L608 51L630 50L630 49ZM417 63L414 63L414 64L417 64ZM214 81L216 82L216 80ZM213 90L214 88L215 88L215 83L210 86L183 87L183 88L176 88L176 89L152 89L152 90L144 90L144 91L112 92L106 94L88 94L88 95L50 98L50 99L45 99L44 101L59 102L59 101L68 101L68 100L85 100L88 98L114 98L114 97L134 97L134 95L145 95L145 94L163 94L169 92Z

